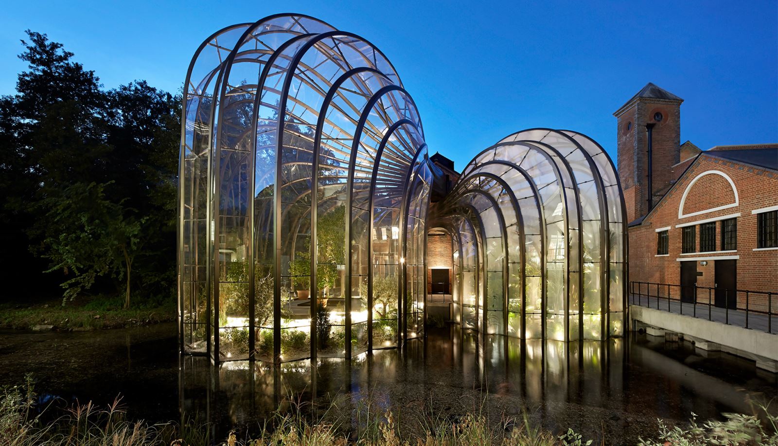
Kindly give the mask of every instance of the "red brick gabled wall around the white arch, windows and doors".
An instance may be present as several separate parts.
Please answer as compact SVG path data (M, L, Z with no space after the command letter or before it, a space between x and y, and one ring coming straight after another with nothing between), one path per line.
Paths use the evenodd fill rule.
M687 185L694 177L706 170L720 170L734 181L738 189L740 203L727 209L706 212L696 216L678 219L678 205ZM704 181L703 181L704 180ZM721 181L724 181L722 183ZM727 187L722 185L726 184ZM701 186L701 187L698 187ZM698 180L689 191L686 198L688 212L694 210L712 209L733 202L731 187L719 175L708 175ZM680 284L681 262L677 258L696 257L696 255L681 255L682 228L676 228L680 223L691 223L740 213L738 216L737 252L722 254L702 254L699 257L715 257L716 255L738 255L737 286L739 290L771 291L778 293L778 250L753 251L756 248L756 220L753 209L778 205L778 174L773 171L759 170L712 156L699 156L692 167L675 184L675 187L660 202L653 212L640 226L629 228L629 280L652 283ZM657 228L671 227L669 234L669 255L657 257ZM721 248L720 223L716 225L716 249ZM699 225L696 229L697 248L699 251ZM698 286L714 285L715 266L713 261L702 266L697 263L697 271L703 272L698 277ZM654 292L654 291L652 291ZM664 291L663 291L664 295ZM678 290L671 293L678 298ZM698 300L707 302L708 291L699 290ZM778 305L778 296L773 297L773 309ZM745 307L745 293L738 295L738 307ZM749 307L766 310L766 296L750 296Z

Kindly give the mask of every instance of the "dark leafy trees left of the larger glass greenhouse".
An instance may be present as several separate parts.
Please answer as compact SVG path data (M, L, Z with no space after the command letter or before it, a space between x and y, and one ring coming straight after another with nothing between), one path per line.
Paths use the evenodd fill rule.
M0 98L0 222L15 253L0 268L41 284L44 270L61 272L65 300L124 290L126 307L139 278L143 297L169 299L180 97L144 81L104 91L61 44L27 34L27 70ZM54 212L65 215L52 224Z

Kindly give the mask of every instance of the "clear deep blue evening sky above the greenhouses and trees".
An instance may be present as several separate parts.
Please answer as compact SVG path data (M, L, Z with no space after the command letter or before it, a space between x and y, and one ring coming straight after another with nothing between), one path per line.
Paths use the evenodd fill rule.
M213 31L277 12L376 44L422 114L427 143L464 167L523 128L569 128L615 154L612 113L646 83L685 100L681 141L778 142L778 2L9 2L0 94L30 28L107 88L178 90Z

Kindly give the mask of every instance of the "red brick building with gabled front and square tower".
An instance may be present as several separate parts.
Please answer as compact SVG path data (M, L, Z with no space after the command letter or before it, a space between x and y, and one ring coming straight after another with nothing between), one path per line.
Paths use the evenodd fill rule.
M629 280L673 285L660 294L684 301L766 310L766 294L747 303L734 290L778 293L778 144L680 144L682 102L649 83L614 114Z

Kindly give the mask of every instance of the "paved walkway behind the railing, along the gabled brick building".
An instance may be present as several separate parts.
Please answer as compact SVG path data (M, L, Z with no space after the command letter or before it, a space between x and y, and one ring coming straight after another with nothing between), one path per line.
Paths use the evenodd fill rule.
M742 310L728 310L726 308L709 306L707 304L681 304L678 300L669 300L665 298L630 295L629 303L640 305L641 307L654 308L661 311L670 311L675 314L692 316L693 318L708 319L709 321L721 322L738 327L746 327L762 332L778 334L778 314L773 313L772 325L769 324L767 314L749 312L746 314ZM669 307L668 307L669 305Z

